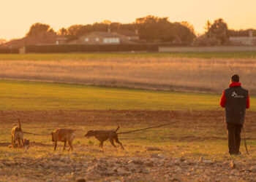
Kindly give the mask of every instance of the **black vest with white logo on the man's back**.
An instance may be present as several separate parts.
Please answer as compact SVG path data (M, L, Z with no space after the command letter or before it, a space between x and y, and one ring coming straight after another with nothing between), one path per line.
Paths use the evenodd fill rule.
M227 123L244 124L247 97L248 91L242 87L230 87L225 90Z

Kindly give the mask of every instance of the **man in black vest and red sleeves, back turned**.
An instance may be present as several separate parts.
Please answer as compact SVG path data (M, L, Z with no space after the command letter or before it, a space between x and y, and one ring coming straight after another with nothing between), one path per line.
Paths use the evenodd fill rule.
M234 74L230 87L223 91L220 106L225 108L230 155L240 155L241 128L244 124L246 108L249 108L249 93L241 87L239 76Z

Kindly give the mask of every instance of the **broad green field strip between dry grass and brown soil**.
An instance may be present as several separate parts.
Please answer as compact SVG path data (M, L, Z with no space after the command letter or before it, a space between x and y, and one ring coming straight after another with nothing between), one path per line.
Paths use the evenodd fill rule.
M221 95L0 80L0 110L217 110ZM251 98L255 111L255 97Z

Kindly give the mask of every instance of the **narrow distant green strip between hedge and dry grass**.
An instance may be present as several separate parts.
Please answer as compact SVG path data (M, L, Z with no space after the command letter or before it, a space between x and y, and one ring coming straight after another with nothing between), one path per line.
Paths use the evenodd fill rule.
M0 60L86 60L101 58L256 58L256 52L148 52L74 54L0 54Z

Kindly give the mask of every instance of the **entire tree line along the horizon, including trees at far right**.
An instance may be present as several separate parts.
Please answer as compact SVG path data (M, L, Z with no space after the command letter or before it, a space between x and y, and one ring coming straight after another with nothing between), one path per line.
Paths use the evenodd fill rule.
M249 31L256 36L255 29L230 30L222 18L214 20L213 23L207 21L205 33L195 36L193 25L187 22L171 23L167 17L156 17L148 15L140 17L134 23L113 23L105 20L102 23L87 25L71 25L68 28L60 28L54 31L48 24L34 23L31 25L26 36L44 37L52 34L59 34L67 37L67 41L78 39L92 31L138 31L140 40L146 42L171 42L173 44L195 44L195 45L223 45L228 44L230 36L248 36Z

